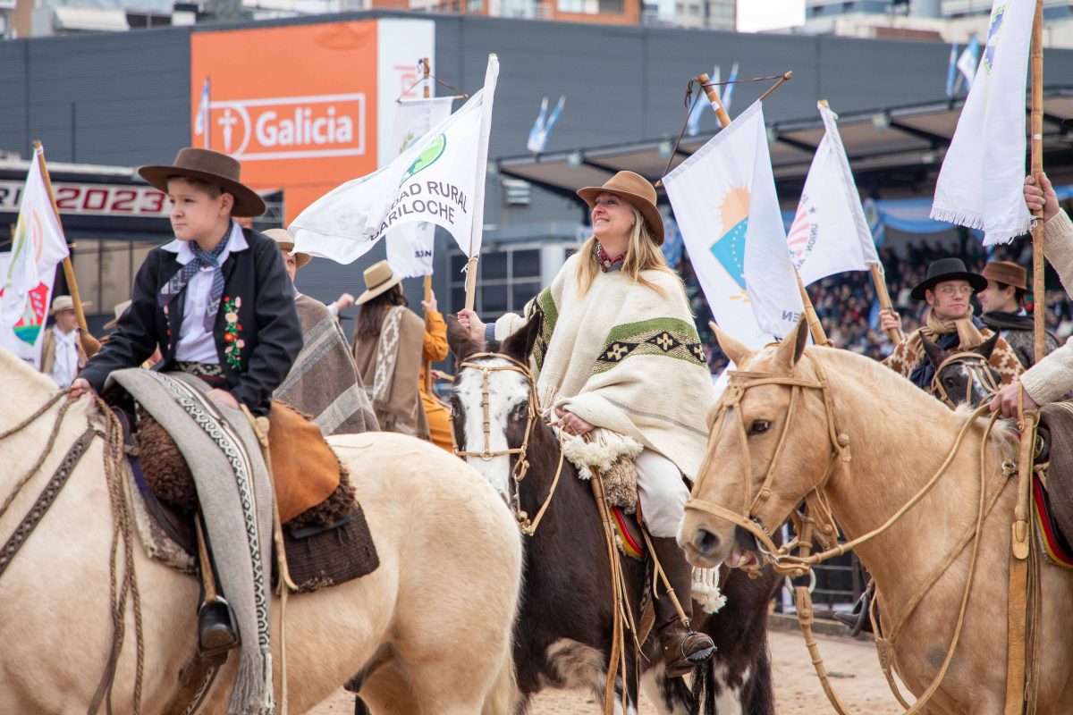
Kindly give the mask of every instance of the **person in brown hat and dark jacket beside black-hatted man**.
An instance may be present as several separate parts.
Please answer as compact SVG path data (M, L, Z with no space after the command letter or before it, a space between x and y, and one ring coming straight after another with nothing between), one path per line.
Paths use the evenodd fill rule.
M1012 260L991 260L984 266L984 278L987 287L976 294L983 311L980 319L1010 343L1027 370L1035 364L1035 333L1032 316L1025 311L1028 291L1025 269ZM1047 332L1044 345L1047 354L1053 353L1058 339Z

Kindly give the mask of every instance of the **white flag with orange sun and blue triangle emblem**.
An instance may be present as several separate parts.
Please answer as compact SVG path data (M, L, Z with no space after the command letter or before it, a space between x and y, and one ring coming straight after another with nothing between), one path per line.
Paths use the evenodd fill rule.
M760 102L663 177L663 185L719 327L753 348L789 333L802 298Z

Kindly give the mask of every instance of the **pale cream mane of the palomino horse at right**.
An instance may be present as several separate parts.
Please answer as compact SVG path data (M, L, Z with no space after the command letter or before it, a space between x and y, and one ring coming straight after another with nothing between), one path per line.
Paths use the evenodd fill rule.
M957 409L951 409L916 387L900 373L852 351L815 346L809 346L806 351L809 355L818 357L828 372L849 375L866 382L877 394L883 394L891 401L903 405L906 412L912 413L922 421L943 424L947 429L956 431L972 415L973 407L961 405ZM981 429L986 426L987 419L986 416L976 419ZM1003 458L1013 457L1016 453L1017 433L1016 426L1012 421L997 421L991 430L991 438Z

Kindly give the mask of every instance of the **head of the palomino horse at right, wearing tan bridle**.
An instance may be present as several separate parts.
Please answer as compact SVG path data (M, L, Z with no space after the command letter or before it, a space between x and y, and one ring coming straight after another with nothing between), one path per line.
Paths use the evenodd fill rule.
M777 528L823 486L839 449L832 440L840 438L832 431L822 368L803 359L804 321L759 352L715 330L738 370L708 417L707 458L678 531L678 545L700 567L751 562L743 549L755 548L755 536Z

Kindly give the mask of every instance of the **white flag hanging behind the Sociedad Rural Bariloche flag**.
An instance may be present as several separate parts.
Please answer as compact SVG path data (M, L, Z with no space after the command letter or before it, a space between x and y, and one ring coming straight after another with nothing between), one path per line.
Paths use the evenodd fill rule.
M453 98L400 100L395 107L395 146L399 153L428 134L428 130L451 116ZM432 274L436 224L403 223L387 234L387 263L402 278Z

